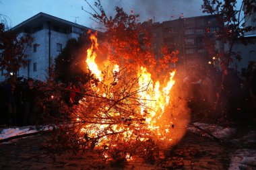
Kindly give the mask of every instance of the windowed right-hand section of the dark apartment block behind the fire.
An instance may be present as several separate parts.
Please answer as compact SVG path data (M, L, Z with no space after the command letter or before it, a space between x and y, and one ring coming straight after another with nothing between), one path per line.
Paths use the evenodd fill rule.
M210 56L205 48L205 36L215 39L214 34L221 28L216 15L189 17L184 19L184 56L187 67L207 65ZM220 45L221 43L218 43Z

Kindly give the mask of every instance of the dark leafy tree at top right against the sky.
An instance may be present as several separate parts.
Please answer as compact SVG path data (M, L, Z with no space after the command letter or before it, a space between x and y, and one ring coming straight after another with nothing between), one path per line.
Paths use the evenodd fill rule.
M222 60L220 64L226 72L232 61L234 42L241 40L243 44L247 44L245 34L255 30L255 27L245 26L244 23L256 12L256 3L253 0L243 0L240 5L236 0L203 0L201 7L203 13L218 14L220 16L218 22L225 24L220 32L216 34L216 38L229 44L228 52L220 52L220 59Z

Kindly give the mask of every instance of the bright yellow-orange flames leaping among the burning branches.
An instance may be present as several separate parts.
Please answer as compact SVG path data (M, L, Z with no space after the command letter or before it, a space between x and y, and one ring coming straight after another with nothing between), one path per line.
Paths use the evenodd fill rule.
M90 36L90 40L92 40L92 45L90 48L88 48L87 52L87 59L86 62L88 64L88 68L94 75L96 75L96 78L99 79L99 81L102 81L102 72L98 69L98 66L96 65L95 58L96 58L96 52L95 50L98 49L98 42L96 35L92 34ZM119 65L115 65L113 67L113 73L118 73L120 71ZM172 89L175 81L173 79L175 75L175 71L170 73L170 78L168 79L166 85L160 84L160 81L154 81L152 80L151 74L148 73L147 69L145 67L140 67L137 71L137 77L138 77L138 85L139 85L139 99L142 103L140 108L141 118L145 118L145 122L143 126L140 126L140 124L134 124L133 126L137 128L138 130L147 128L150 130L151 134L147 134L145 136L152 136L155 135L157 139L159 140L165 140L170 142L172 138L170 137L170 122L164 122L164 118L162 118L162 115L165 111L166 105L170 102L170 90ZM117 82L118 80L115 79L114 82ZM103 97L105 97L106 93L104 91L96 90L96 93L101 93ZM110 94L111 95L111 94ZM112 94L113 95L113 94ZM83 104L82 102L79 102L80 104ZM106 108L108 110L108 108ZM111 116L118 116L119 113L110 113ZM103 113L102 113L103 115ZM104 117L104 116L102 116ZM90 132L86 129L86 127L93 126L94 128L90 128ZM109 126L108 124L87 124L84 126L84 128L81 128L80 132L88 135L90 138L97 137L104 128ZM125 130L124 133L122 133L121 137L119 137L120 140L127 141L129 138L136 138L141 141L148 140L147 137L137 137L134 136L133 130L130 130L127 126L117 126L112 125L112 130L114 132L122 132ZM134 136L134 137L133 137ZM98 143L99 146L102 146L103 144L106 144L108 141L108 137L104 136L102 140ZM127 154L127 160L132 160L132 157L130 157L129 154Z

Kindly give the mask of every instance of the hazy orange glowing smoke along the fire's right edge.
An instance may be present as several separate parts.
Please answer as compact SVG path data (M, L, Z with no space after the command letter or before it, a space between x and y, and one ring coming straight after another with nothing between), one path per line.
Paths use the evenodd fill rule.
M170 133L166 133L167 138L171 141L165 141L161 145L161 149L170 148L177 144L187 132L187 126L191 122L191 110L187 105L187 95L189 89L185 88L183 77L185 72L181 68L177 68L174 76L175 84L170 91L170 103L166 107L162 120L160 122L169 122Z

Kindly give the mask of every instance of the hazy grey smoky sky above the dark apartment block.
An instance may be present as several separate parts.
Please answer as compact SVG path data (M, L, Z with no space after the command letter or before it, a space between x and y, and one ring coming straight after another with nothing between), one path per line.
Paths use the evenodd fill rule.
M139 22L163 22L179 17L193 17L203 15L201 12L202 0L105 0L102 5L107 15L115 15L115 7L123 7L124 11L139 14Z

